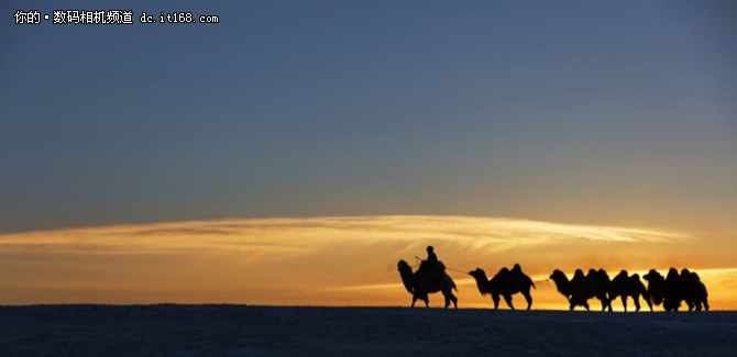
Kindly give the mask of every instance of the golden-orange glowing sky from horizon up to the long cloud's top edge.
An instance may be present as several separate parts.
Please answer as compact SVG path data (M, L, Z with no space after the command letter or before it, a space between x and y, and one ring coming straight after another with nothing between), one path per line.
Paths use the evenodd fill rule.
M0 304L407 305L396 264L415 263L427 245L460 271L481 267L491 277L519 263L536 281L537 309L565 308L546 281L553 269L664 272L673 261L700 272L714 309L737 305L737 264L697 236L468 216L190 221L0 235L0 270L12 272L0 276ZM473 279L449 275L461 306L492 304ZM440 295L430 301L442 304ZM524 308L521 297L515 302Z

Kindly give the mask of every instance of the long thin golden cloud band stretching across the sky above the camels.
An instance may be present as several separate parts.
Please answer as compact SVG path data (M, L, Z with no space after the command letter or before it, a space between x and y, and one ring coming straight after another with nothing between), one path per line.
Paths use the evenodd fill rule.
M468 216L258 219L113 225L0 235L0 252L187 253L309 248L315 244L449 242L498 253L575 242L673 242L672 232ZM425 244L425 243L422 243ZM421 252L421 250L420 250Z

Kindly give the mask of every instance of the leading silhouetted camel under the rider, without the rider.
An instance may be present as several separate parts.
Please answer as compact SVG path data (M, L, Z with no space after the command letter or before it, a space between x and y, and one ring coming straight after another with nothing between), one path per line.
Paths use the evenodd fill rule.
M425 301L425 305L430 308L428 293L441 291L446 298L446 309L450 306L451 301L455 309L458 309L458 298L453 295L453 289L458 291L455 282L446 274L446 266L442 261L438 261L437 267L441 272L441 279L432 278L430 269L427 268L425 261L420 264L417 272L413 272L413 267L405 260L399 260L399 264L397 264L397 270L399 270L399 275L402 276L402 282L405 285L405 289L413 294L411 308L415 308L415 302L417 302L418 299Z

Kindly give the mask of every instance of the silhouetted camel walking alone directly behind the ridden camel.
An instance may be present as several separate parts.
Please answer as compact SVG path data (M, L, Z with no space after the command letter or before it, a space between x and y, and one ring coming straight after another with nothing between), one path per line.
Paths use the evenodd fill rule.
M515 264L512 270L507 268L502 268L494 278L488 280L486 278L486 272L484 270L476 268L476 270L470 271L476 280L476 286L479 287L479 292L481 295L492 294L492 300L494 300L494 310L499 308L499 295L504 297L504 301L507 302L509 309L515 310L515 306L512 304L512 295L518 292L521 292L527 300L527 310L530 310L532 306L532 297L530 295L530 287L535 287L532 279L522 272L522 268L519 264Z

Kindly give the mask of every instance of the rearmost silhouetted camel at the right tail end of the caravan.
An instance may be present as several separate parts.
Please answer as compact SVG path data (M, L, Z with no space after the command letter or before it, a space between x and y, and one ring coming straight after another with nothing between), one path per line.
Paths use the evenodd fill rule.
M678 311L681 301L685 301L689 311L708 311L708 292L706 286L701 282L696 272L689 269L681 270L679 275L675 268L668 270L668 277L663 279L660 272L650 269L644 277L648 281L648 294L656 305L663 304L666 311Z

